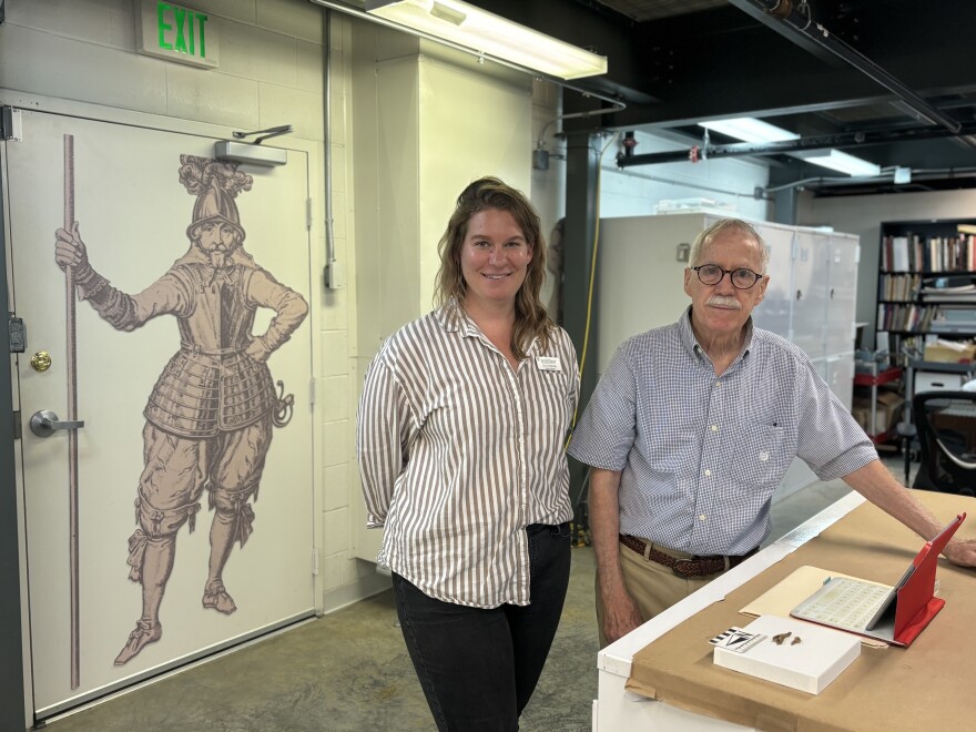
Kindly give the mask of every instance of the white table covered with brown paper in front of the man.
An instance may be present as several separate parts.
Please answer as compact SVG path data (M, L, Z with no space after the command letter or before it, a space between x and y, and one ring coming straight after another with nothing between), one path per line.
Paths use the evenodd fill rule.
M959 510L969 512L957 537L976 536L976 499L925 491L916 495L946 522ZM968 715L960 705L968 704L972 694L969 669L976 658L976 636L969 622L976 609L976 577L945 559L939 559L937 577L946 607L913 645L865 647L820 695L711 663L708 638L731 626L748 624L750 619L739 609L796 567L826 563L833 571L894 583L921 547L922 541L908 529L860 495L850 494L603 649L598 655L593 729L714 732L761 726L914 732L923 716L926 728L959 729L960 716ZM628 691L632 673L639 683L631 687L652 687L663 701ZM870 722L858 716L864 713L873 715Z

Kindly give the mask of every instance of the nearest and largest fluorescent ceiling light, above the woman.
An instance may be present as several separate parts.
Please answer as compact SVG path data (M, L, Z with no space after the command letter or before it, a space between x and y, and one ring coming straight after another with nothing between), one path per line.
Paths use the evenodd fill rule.
M366 0L366 11L476 53L560 79L607 73L607 57L460 0Z

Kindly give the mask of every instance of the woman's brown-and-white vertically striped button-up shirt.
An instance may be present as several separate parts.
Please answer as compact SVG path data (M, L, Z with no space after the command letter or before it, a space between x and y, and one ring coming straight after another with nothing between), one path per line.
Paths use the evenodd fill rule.
M453 303L395 333L366 372L356 438L377 561L445 602L528 604L526 527L572 518L578 398L561 328L517 369Z

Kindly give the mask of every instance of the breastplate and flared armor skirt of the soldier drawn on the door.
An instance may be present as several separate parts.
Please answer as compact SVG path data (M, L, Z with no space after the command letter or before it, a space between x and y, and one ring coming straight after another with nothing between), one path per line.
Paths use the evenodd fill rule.
M177 318L181 347L160 375L145 418L181 437L212 437L252 425L274 409L275 390L263 362L244 354L255 308L244 293L254 270L233 265L207 282L209 267L177 265L171 274L195 293Z

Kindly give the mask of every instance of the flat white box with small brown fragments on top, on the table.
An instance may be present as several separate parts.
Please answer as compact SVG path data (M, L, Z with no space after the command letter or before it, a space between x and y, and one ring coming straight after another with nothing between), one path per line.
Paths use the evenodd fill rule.
M776 616L730 628L711 643L715 665L811 694L826 689L861 655L861 639L853 633Z

